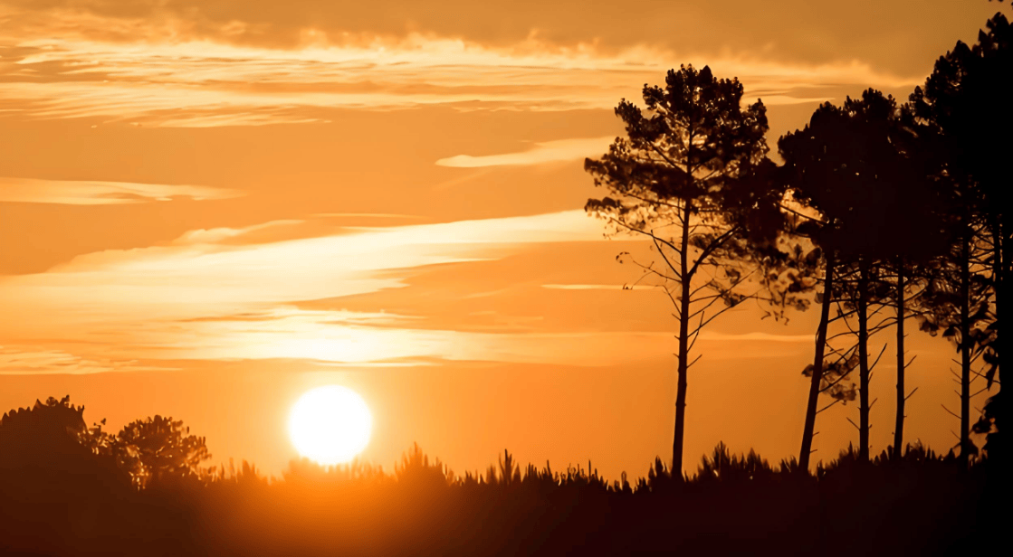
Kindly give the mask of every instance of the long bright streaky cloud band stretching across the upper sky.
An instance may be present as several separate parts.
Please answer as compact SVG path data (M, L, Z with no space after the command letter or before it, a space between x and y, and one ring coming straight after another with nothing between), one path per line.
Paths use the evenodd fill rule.
M339 108L608 109L637 98L642 84L664 81L672 60L738 76L747 98L760 95L769 104L827 98L813 95L813 87L891 89L924 79L858 60L783 62L755 51L677 55L644 45L558 50L537 38L517 49L415 33L389 47L378 39L278 50L38 36L47 34L0 33L0 110L151 127L326 123Z

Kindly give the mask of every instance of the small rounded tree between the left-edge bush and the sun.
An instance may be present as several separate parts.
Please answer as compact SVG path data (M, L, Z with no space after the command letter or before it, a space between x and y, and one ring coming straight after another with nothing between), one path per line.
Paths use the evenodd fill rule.
M159 415L125 425L111 451L139 488L197 476L201 463L211 458L204 437L189 434L182 420Z

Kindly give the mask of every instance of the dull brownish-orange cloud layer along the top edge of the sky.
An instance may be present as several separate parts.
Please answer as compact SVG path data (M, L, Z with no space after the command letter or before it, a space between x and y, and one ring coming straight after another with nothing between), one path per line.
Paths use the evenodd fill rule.
M715 58L726 49L791 64L859 60L921 73L957 38L972 41L995 11L984 1L965 4L925 0L912 10L902 0L853 0L848 9L805 0L647 0L641 9L630 9L587 0L574 11L571 2L541 0L290 0L284 7L276 0L3 0L0 16L6 16L5 27L27 35L120 43L208 41L296 50L378 42L389 47L418 34L523 50L536 37L553 51L594 47L614 53L649 45Z

